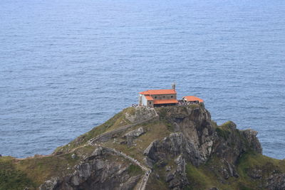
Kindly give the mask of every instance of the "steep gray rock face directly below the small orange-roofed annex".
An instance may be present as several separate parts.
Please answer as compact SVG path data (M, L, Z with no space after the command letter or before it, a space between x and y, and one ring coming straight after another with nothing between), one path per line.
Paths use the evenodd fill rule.
M174 109L174 110L171 110ZM176 127L176 131L161 141L152 142L145 149L145 155L157 161L183 154L187 162L195 166L207 161L217 139L211 125L209 112L189 107L170 107L165 118Z

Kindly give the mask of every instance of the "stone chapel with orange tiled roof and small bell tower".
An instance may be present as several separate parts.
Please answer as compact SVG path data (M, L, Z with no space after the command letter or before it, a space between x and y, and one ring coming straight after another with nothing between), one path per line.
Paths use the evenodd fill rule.
M177 103L175 85L172 85L172 89L143 91L138 96L138 104L147 107L170 106L177 105Z

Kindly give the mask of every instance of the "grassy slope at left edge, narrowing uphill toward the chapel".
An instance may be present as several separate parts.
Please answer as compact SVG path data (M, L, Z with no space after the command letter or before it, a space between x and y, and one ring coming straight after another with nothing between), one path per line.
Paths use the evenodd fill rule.
M68 174L72 172L75 164L79 159L72 159L71 154L78 155L90 154L93 147L82 147L88 139L91 139L103 132L113 130L117 127L128 125L130 122L125 119L125 112L132 113L133 107L128 107L119 112L107 122L98 127L94 127L90 132L81 135L73 142L63 147L58 147L55 153L64 154L28 157L26 159L16 159L13 157L0 158L0 190L5 189L36 189L43 181L50 179L52 176ZM137 170L138 171L138 170ZM141 171L142 172L142 171Z

